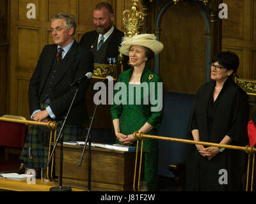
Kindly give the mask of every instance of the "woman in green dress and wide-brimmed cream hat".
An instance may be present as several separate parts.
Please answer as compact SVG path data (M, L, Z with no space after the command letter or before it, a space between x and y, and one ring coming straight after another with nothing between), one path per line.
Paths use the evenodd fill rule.
M154 34L138 34L125 37L119 51L129 55L132 67L122 72L115 84L111 116L115 129L116 143L136 145L135 131L157 135L163 118L163 82L147 68L146 62L163 50L163 43ZM144 180L149 191L157 189L157 140L145 138Z

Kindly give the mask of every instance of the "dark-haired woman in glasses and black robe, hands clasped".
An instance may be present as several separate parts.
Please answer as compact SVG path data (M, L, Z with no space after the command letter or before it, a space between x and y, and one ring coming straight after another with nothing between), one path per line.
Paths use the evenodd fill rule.
M248 96L233 80L239 58L221 52L211 63L211 82L200 87L191 111L188 139L223 145L248 144ZM188 191L239 191L246 168L241 150L188 145Z

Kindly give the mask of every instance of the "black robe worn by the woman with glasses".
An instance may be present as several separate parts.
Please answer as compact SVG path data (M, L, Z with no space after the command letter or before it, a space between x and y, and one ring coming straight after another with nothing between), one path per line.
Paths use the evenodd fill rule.
M225 135L228 135L232 138L230 145L247 145L249 118L247 94L228 78L218 98L213 102L215 85L215 81L208 82L197 92L189 119L187 138L193 140L191 131L198 129L202 142L220 143ZM201 156L195 145L188 145L186 153L188 191L241 190L241 181L246 168L245 152L225 149L211 161ZM225 171L225 175L228 176L227 184L220 184L224 175L220 170L227 170Z

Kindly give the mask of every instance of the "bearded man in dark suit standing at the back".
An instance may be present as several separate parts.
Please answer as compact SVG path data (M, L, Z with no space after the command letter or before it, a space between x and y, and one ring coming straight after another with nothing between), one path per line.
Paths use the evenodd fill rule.
M85 33L80 41L80 45L93 53L95 63L109 64L117 61L118 48L124 33L116 29L114 21L115 14L109 3L102 2L95 6L95 31Z

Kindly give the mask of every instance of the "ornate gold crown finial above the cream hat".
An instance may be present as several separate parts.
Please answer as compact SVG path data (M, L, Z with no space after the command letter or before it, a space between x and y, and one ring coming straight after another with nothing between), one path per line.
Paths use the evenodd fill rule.
M132 0L131 10L125 10L123 13L124 35L132 37L141 33L143 27L144 15L138 11L138 0Z

